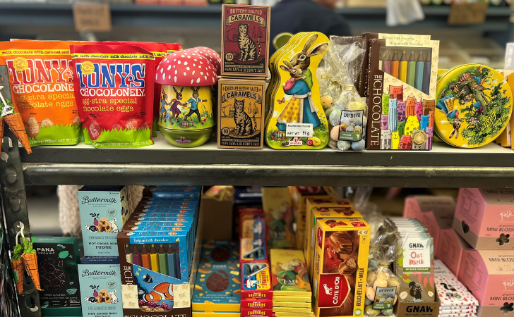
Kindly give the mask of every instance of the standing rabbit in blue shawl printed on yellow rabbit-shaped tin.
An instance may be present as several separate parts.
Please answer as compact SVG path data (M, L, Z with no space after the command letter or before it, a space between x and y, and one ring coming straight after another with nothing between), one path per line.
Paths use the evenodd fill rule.
M313 75L309 66L311 66L311 57L323 53L328 48L328 43L313 46L316 39L318 39L318 35L313 34L306 40L304 49L294 54L289 61L290 67L284 61L289 74L298 76L301 71L301 75L293 76L291 82L286 83L283 87L284 93L292 96L292 98L277 118L277 128L280 131L286 130L287 123L312 123L313 129L321 125L321 120L318 118L318 108L311 97ZM311 48L311 46L313 47ZM284 70L282 66L280 68Z

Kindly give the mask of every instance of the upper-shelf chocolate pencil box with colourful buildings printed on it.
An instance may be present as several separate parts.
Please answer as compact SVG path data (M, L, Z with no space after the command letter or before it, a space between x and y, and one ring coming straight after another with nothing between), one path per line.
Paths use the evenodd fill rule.
M369 122L366 149L430 150L439 42L429 35L364 35Z

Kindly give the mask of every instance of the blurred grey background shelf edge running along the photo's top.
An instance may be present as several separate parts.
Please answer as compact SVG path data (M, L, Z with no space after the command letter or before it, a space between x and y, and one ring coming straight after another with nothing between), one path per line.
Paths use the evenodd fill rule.
M408 25L410 30L450 27L446 22L450 13L449 6L424 6L423 10L425 20ZM198 7L112 4L111 11L114 27L221 27L220 5ZM342 8L337 12L344 15L353 29L373 31L387 27L386 8ZM504 44L514 37L510 23L513 12L507 7L493 6L487 10L485 23L465 27L487 32ZM16 25L73 27L72 4L0 3L0 27ZM450 27L450 30L458 28L460 27Z

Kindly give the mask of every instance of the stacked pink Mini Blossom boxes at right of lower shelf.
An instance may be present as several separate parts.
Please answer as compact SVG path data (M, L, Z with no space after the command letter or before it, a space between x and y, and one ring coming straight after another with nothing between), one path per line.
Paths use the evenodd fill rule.
M514 292L514 244L510 242L514 230L510 220L514 215L514 190L461 188L453 221L437 216L439 211L450 209L448 201L434 197L429 203L425 199L428 198L407 199L404 216L426 218L427 228L429 218L436 216L439 227L432 230L436 232L436 257L477 299L477 315L499 317L511 311L507 301ZM446 216L448 213L451 211L447 210ZM451 223L453 228L443 228L441 223L444 227ZM455 292L445 291L450 295Z

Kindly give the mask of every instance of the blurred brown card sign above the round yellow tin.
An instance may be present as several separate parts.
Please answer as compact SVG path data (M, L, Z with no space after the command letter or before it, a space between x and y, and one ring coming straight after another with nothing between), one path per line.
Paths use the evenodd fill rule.
M453 3L448 15L449 25L471 25L482 24L486 21L487 2L475 2L474 4L455 4Z

